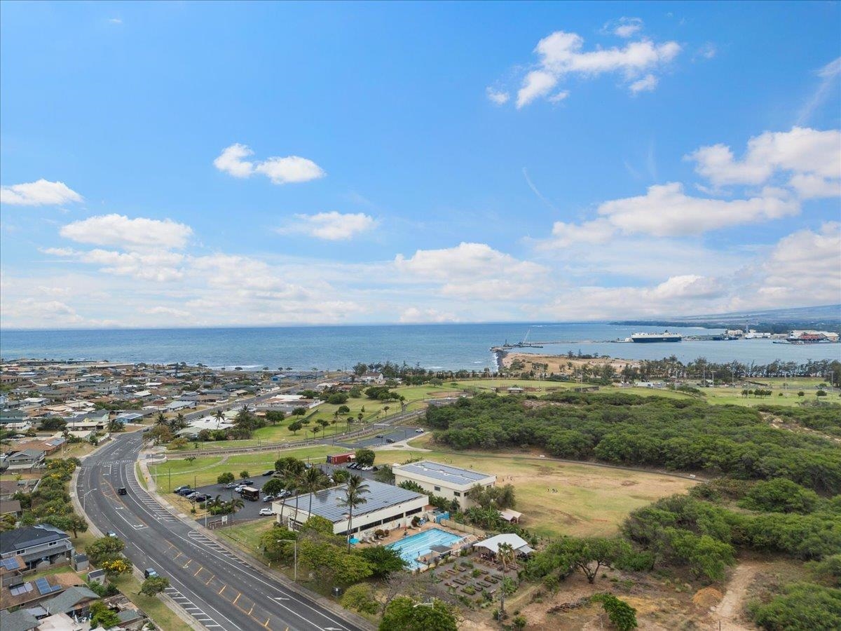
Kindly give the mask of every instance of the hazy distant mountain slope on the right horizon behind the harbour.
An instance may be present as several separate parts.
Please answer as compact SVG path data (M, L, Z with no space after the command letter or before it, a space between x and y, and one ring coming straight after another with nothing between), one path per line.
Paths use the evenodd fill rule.
M757 331L783 333L791 329L817 329L820 331L841 331L841 305L820 305L794 307L791 309L767 309L734 311L706 315L676 315L652 318L650 320L626 320L612 322L621 325L648 326L703 326L708 329L743 328L749 326Z

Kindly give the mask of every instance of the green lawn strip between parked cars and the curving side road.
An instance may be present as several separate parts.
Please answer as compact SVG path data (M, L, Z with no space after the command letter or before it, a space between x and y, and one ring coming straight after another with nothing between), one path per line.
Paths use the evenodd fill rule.
M168 492L181 485L209 485L215 484L216 478L225 471L230 471L239 477L243 470L251 476L261 475L263 471L271 469L278 457L294 456L300 459L311 459L314 462L324 462L328 453L345 451L332 447L304 447L284 451L268 451L262 453L243 453L229 456L202 456L188 462L185 459L173 459L163 464L149 468L152 475L157 475L158 488L161 492ZM278 456L279 453L279 456Z

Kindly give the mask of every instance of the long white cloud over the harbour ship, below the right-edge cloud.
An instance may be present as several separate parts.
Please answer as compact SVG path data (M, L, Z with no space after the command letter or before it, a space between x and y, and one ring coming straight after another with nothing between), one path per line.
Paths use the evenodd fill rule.
M598 208L599 215L621 231L653 236L696 235L798 212L800 204L777 188L750 199L727 200L690 197L680 183L651 186L645 195L613 199Z

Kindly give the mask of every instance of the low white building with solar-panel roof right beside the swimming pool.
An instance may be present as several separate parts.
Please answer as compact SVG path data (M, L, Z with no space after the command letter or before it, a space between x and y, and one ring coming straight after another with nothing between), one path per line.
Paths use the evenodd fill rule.
M277 515L278 523L288 525L293 530L298 530L310 515L318 515L333 523L333 533L347 534L348 528L352 528L351 533L361 537L378 528L404 528L409 525L412 517L423 513L429 504L427 496L399 486L374 480L365 480L365 484L369 492L362 497L367 501L353 510L350 524L348 509L341 506L346 485L298 496L297 508L294 497L287 499L285 504L275 501L272 503L272 511ZM309 512L310 497L312 512Z

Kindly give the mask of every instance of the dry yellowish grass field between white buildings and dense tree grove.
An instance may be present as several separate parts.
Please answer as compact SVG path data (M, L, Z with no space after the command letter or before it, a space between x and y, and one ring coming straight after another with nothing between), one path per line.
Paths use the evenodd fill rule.
M410 441L429 448L431 436ZM434 446L433 446L434 447ZM532 456L526 458L524 456ZM496 475L497 485L516 489L516 510L521 524L544 537L559 535L609 536L632 510L660 497L684 493L692 480L668 475L609 469L590 464L568 464L533 458L526 453L443 452L383 450L379 463L402 463L421 456L436 462ZM547 491L557 489L558 493Z

